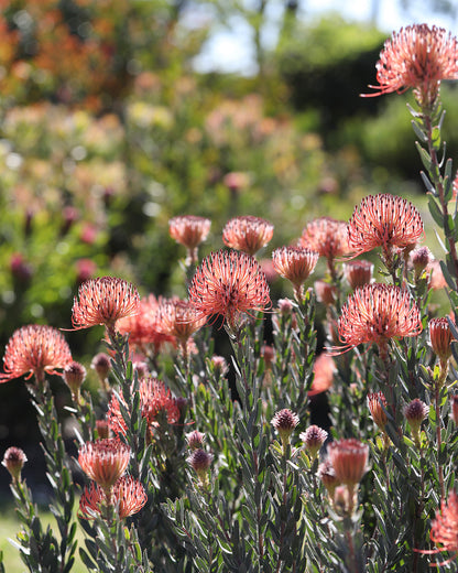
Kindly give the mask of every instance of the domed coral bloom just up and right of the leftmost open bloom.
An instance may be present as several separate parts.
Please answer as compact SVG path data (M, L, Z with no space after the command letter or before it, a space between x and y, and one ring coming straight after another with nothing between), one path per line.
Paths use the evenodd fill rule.
M130 282L113 277L89 279L78 289L72 310L75 329L105 324L113 328L117 321L138 312L139 293Z

